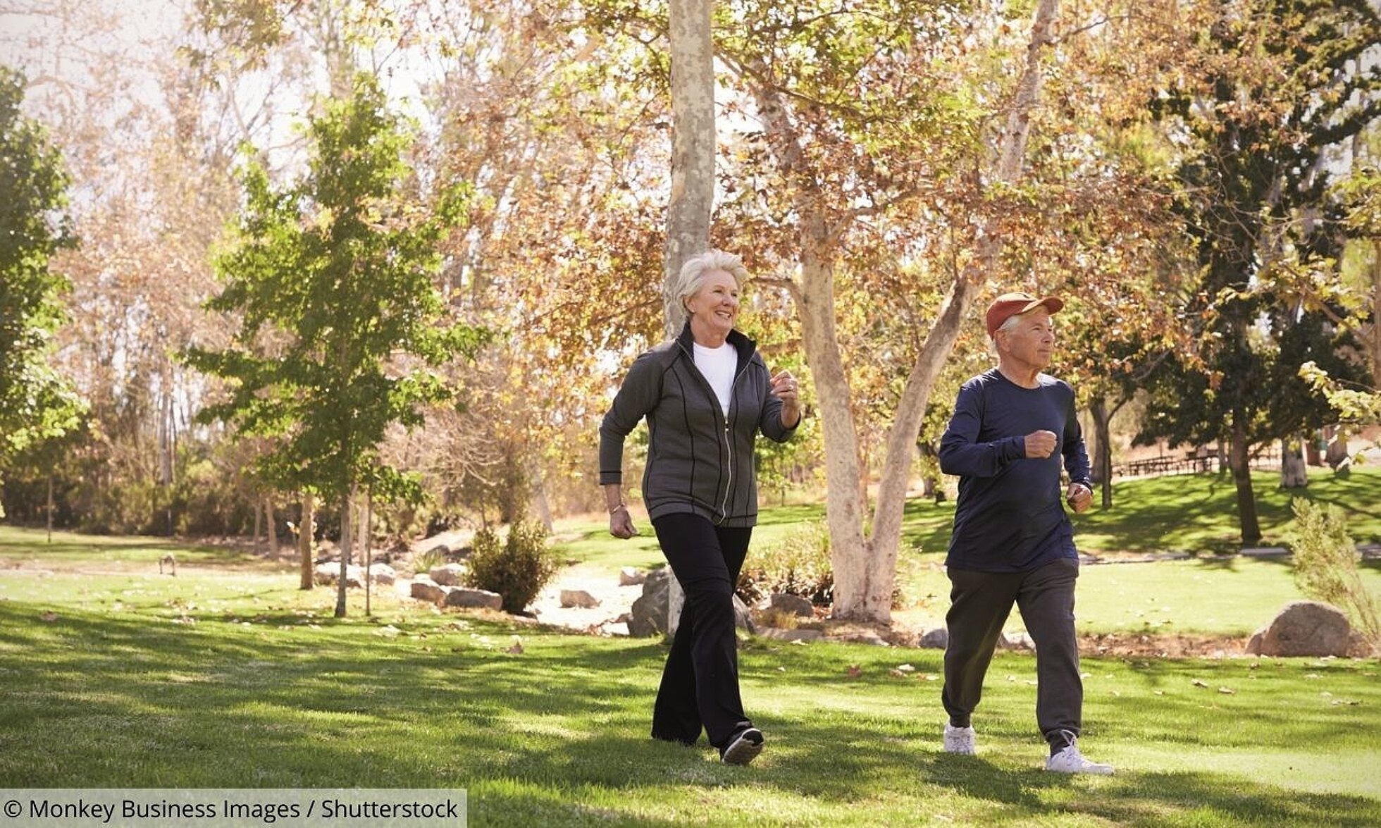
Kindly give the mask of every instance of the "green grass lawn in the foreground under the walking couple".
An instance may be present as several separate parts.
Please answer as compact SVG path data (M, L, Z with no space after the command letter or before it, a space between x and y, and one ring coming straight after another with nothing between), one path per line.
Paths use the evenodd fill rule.
M753 640L743 693L769 749L735 769L646 737L655 640L387 589L373 618L352 594L337 621L290 565L41 538L0 529L0 787L460 787L475 825L1381 822L1374 659L1085 658L1084 746L1119 774L1063 778L1039 770L1029 655L997 655L981 753L954 758L939 651ZM175 578L157 575L168 549ZM1240 564L1201 574L1283 570ZM1188 579L1134 567L1085 578L1117 572L1103 586L1135 596Z

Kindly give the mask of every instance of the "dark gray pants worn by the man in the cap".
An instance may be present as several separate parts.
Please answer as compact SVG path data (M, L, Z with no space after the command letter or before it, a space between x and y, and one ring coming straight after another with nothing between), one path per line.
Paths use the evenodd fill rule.
M983 676L993 661L1012 604L1036 643L1036 724L1047 741L1068 730L1079 735L1084 683L1079 677L1074 633L1074 581L1079 561L1058 560L1030 572L950 570L949 646L940 698L950 723L967 726L983 695Z

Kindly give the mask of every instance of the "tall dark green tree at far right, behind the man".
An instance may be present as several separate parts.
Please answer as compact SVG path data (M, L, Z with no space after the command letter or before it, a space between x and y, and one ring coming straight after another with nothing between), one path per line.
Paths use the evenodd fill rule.
M1196 321L1201 368L1175 361L1156 372L1143 437L1226 437L1250 545L1261 538L1253 446L1322 416L1279 408L1309 399L1300 364L1335 350L1319 336L1298 341L1309 328L1326 329L1282 282L1295 270L1283 264L1335 258L1341 249L1326 221L1330 162L1381 116L1381 18L1366 0L1206 3L1200 11L1211 25L1150 106L1182 147L1179 209L1203 274L1184 312ZM1291 330L1295 361L1282 365Z

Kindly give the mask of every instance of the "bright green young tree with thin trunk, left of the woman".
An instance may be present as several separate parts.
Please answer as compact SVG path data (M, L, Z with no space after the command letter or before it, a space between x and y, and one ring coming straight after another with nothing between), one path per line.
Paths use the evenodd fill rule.
M432 282L465 188L421 200L412 137L377 82L358 76L352 97L329 102L308 133L309 171L293 187L275 191L262 166L246 164L246 206L217 261L225 289L209 303L240 314L240 330L225 350L193 347L186 359L231 384L203 419L279 441L258 462L265 480L341 505L341 617L355 496L421 496L414 478L380 462L385 431L445 399L434 369L483 336L443 323Z

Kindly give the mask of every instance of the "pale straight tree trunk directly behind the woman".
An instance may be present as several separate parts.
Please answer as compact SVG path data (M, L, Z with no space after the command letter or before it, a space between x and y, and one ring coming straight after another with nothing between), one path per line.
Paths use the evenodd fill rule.
M710 247L714 209L714 39L713 0L671 0L671 200L667 203L667 243L663 260L661 305L667 339L685 325L677 297L681 265ZM667 632L681 623L685 593L671 576L667 587Z

